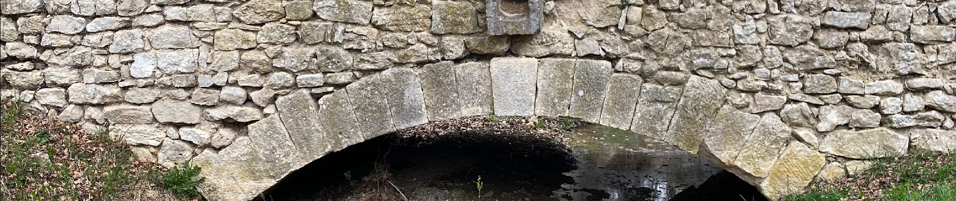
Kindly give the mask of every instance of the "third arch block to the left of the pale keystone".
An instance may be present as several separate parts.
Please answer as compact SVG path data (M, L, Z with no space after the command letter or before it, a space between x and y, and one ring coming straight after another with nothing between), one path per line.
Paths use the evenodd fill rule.
M395 129L405 129L428 122L424 91L414 70L406 68L381 71L383 91Z

